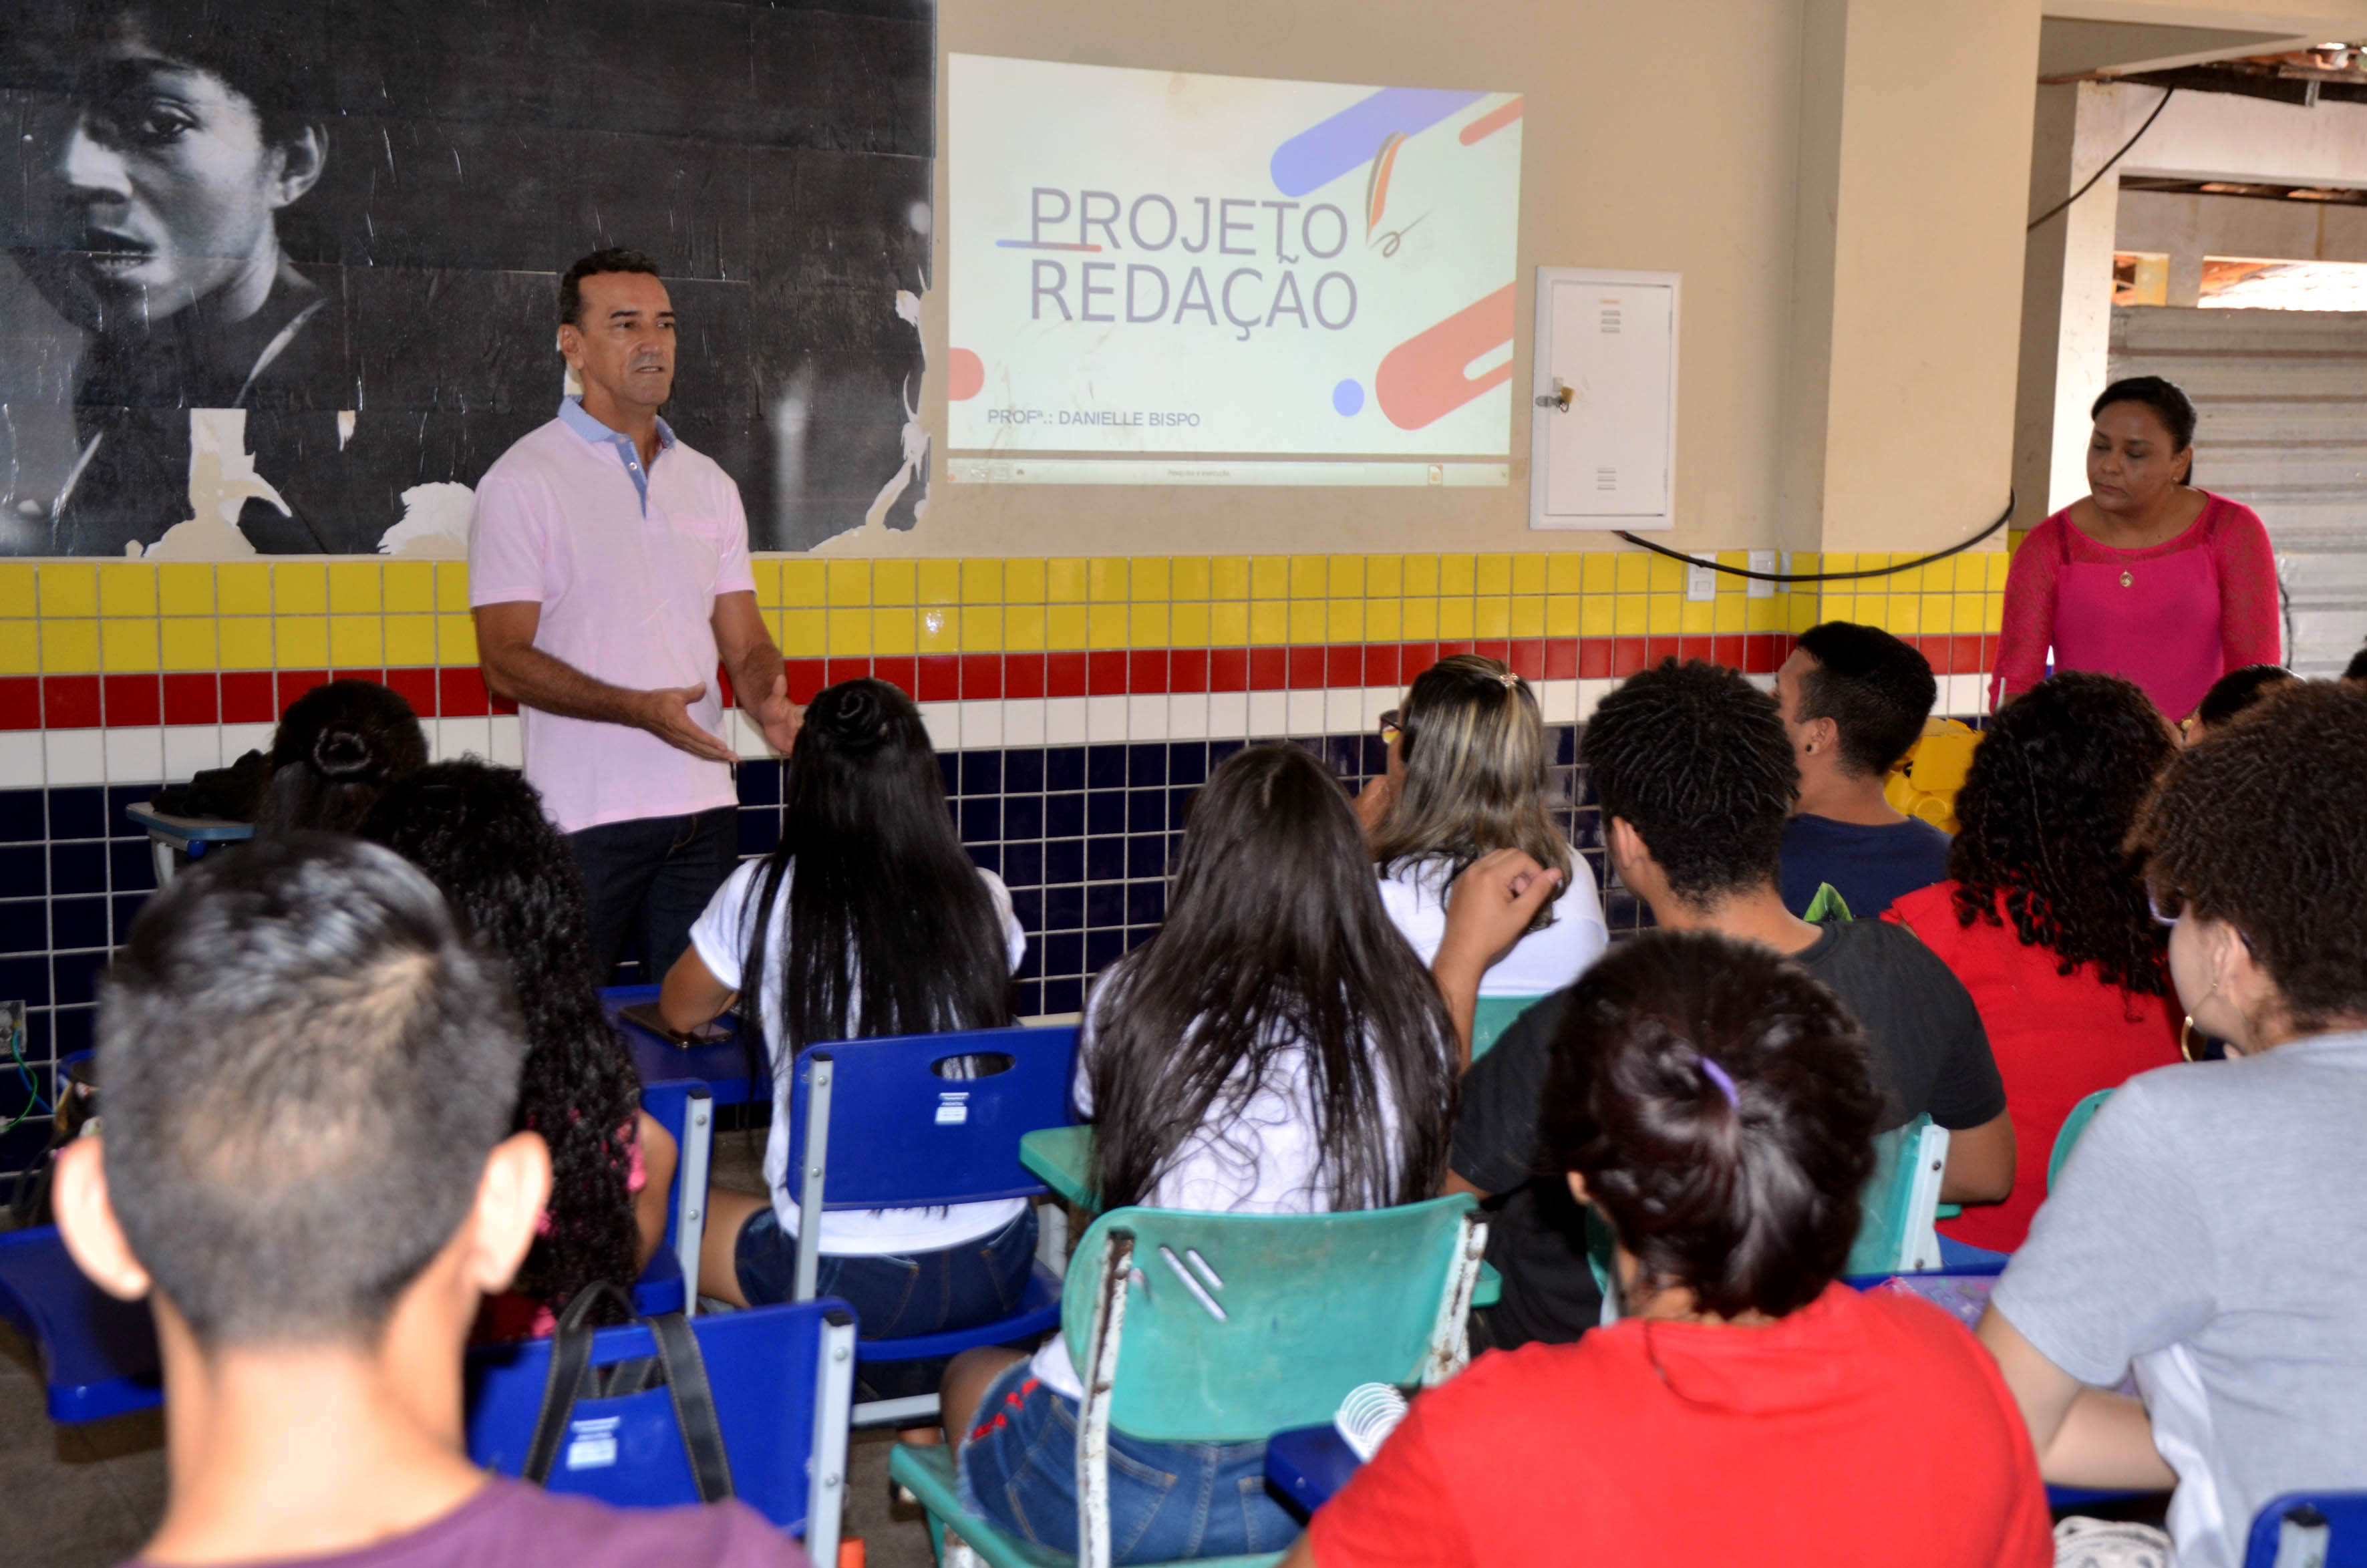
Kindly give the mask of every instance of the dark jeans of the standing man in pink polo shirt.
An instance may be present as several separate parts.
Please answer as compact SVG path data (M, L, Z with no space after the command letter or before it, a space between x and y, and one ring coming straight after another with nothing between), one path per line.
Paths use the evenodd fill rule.
M691 924L739 865L739 810L634 817L568 834L592 905L592 973L601 985L641 938L641 981L658 983L691 945Z

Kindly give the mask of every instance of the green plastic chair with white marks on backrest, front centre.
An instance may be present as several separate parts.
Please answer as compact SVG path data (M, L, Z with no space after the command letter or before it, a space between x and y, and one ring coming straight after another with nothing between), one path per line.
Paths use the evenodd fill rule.
M940 1556L952 1528L992 1568L1108 1568L1112 1426L1150 1442L1252 1442L1330 1421L1359 1383L1442 1383L1463 1369L1484 1251L1470 1194L1344 1215L1112 1210L1084 1232L1060 1293L1084 1383L1077 1556L963 1514L949 1447L897 1445L888 1473L928 1509Z

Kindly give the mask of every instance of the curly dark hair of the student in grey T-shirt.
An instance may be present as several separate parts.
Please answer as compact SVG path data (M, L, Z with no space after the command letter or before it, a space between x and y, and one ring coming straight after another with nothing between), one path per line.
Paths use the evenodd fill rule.
M2294 680L2180 751L2130 846L2166 907L2244 933L2294 1028L2367 1018L2367 689Z

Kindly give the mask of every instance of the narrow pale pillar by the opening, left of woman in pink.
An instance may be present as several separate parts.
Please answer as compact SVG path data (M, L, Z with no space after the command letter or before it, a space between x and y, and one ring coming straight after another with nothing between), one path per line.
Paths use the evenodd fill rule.
M2123 92L2126 88L2097 83L2038 90L2031 218L2078 189L2128 140L2121 126ZM2036 528L2050 512L2088 493L2088 405L2104 391L2104 360L2111 351L2118 175L2118 168L2109 171L2095 189L2024 239L2021 369L2014 396L2017 533ZM2199 239L2192 249L2192 284L2199 289ZM2173 256L2171 294L2178 287Z

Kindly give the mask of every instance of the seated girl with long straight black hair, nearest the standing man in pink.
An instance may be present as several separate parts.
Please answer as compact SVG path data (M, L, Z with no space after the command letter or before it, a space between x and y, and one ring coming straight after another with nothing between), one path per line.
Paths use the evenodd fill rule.
M944 810L921 711L885 680L814 696L781 791L781 846L715 891L658 997L677 1030L736 1000L750 1071L762 1063L772 1078L769 1196L717 1187L708 1201L698 1289L734 1305L795 1293L798 1049L1011 1023L1011 971L1027 955L1011 893L970 862ZM850 1300L876 1338L987 1324L1027 1289L1034 1225L1025 1199L833 1210L821 1217L821 1293ZM871 1388L885 1397L876 1379Z

